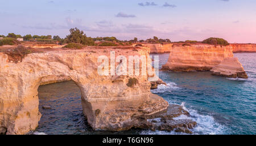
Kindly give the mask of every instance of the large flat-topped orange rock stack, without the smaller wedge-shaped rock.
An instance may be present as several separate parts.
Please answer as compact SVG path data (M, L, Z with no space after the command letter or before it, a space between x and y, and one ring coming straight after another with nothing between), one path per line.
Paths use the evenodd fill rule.
M209 71L224 58L233 57L232 47L213 45L176 45L162 70L172 71Z

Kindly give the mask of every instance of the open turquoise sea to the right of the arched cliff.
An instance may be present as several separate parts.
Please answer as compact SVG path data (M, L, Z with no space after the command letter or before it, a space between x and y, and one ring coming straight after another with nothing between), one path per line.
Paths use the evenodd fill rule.
M160 72L169 85L152 92L170 103L183 102L202 128L196 129L198 134L256 134L256 53L234 55L249 79L229 79L209 72ZM163 65L168 54L159 58Z

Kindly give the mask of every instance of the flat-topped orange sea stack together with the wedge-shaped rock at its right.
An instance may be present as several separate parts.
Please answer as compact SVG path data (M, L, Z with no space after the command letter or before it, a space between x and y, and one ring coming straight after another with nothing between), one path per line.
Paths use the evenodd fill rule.
M232 46L230 45L214 46L197 44L188 46L174 46L174 48L171 50L168 62L166 65L163 65L162 70L212 70L214 75L225 75L231 78L247 77L241 63L238 61L238 59L233 58Z

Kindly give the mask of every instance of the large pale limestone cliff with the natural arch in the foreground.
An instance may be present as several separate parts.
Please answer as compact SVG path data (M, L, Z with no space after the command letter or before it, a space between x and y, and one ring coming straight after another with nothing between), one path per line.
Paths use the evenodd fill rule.
M84 115L94 130L127 130L138 125L137 117L167 109L167 101L151 95L147 75L100 76L97 72L102 64L98 56L111 50L127 57L148 55L148 49L92 49L32 53L19 63L9 62L7 54L0 53L0 133L25 134L38 126L38 87L42 79L54 76L75 81ZM131 78L137 82L127 86Z

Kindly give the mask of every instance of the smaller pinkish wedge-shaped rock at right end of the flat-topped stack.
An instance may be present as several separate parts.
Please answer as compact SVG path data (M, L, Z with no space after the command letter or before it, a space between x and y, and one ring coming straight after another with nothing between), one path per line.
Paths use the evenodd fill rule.
M229 78L245 78L248 76L237 58L225 58L219 65L212 68L213 75L226 76Z

